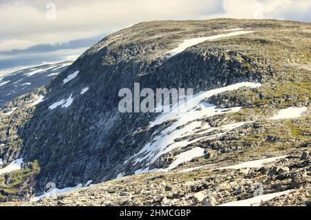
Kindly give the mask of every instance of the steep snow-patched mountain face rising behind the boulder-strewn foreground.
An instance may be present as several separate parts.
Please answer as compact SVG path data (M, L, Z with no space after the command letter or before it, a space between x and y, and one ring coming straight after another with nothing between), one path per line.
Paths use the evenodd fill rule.
M286 122L282 126L296 133L274 136L285 146L309 144L310 34L310 23L232 19L158 21L120 30L48 86L3 108L19 106L12 115L1 114L3 167L23 158L19 172L31 177L21 175L28 192L16 187L23 197L41 194L48 182L65 188L167 172L195 157L272 146L276 141L267 143L265 123L289 107L305 108L307 124L297 130L300 122ZM180 114L121 113L118 92L133 90L134 83L154 90L194 88L199 100Z

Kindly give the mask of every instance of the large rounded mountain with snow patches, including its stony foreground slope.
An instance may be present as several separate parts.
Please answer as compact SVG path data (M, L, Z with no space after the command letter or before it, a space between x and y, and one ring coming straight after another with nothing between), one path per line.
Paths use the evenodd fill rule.
M310 23L213 19L105 37L1 109L1 201L219 205L258 193L261 205L308 204L310 34ZM194 96L172 112L122 113L119 91L135 83ZM75 191L42 199L51 186Z

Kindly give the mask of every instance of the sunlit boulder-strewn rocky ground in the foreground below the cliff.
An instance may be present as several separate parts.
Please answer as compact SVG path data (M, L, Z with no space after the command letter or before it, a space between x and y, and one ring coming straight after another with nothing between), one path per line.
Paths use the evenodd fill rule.
M260 168L214 170L242 156L231 153L198 170L124 177L21 206L311 206L311 157L306 150L311 148L283 151L289 156Z

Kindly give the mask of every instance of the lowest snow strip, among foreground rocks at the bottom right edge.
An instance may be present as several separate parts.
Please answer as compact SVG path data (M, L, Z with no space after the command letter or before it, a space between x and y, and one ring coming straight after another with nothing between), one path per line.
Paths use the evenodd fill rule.
M274 192L270 194L262 194L257 197L252 197L250 199L243 199L238 201L230 201L228 203L223 203L219 206L259 206L264 201L269 201L274 199L275 197L282 196L283 194L289 194L293 192L293 190L286 190L283 192Z

